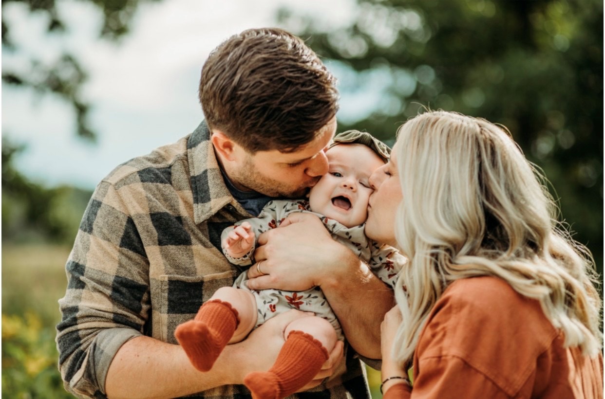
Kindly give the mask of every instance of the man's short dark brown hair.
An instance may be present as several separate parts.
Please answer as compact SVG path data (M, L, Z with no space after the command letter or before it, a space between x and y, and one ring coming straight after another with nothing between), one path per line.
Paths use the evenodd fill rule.
M201 70L209 128L246 151L296 151L338 111L336 79L299 37L278 29L229 37Z

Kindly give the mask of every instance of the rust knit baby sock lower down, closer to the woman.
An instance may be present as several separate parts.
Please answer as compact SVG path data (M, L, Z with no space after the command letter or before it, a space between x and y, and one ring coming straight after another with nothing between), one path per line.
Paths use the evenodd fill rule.
M301 389L321 369L328 351L321 342L302 331L292 331L275 364L267 372L255 371L244 377L253 399L278 399Z

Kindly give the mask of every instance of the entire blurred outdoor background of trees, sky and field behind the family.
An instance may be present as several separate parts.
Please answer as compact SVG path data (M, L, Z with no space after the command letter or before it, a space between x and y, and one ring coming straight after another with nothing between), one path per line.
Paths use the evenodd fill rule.
M189 134L209 52L261 26L338 77L339 131L393 143L423 106L507 126L602 273L600 0L3 0L2 395L70 397L54 325L92 190Z

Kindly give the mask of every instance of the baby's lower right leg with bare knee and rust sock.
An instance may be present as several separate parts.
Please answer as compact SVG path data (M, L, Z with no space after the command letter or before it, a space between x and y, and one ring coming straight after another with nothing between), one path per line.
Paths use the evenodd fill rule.
M316 316L293 321L284 337L286 342L272 368L244 378L254 399L283 398L301 389L319 372L337 342L332 325Z

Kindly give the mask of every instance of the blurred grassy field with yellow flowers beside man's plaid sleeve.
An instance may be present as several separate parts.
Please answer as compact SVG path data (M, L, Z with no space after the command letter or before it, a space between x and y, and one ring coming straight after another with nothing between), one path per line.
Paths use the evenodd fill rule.
M57 370L57 300L67 287L70 248L56 245L2 245L2 396L71 398ZM380 373L368 368L373 398Z

